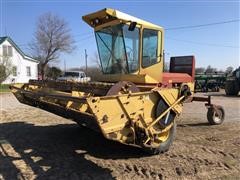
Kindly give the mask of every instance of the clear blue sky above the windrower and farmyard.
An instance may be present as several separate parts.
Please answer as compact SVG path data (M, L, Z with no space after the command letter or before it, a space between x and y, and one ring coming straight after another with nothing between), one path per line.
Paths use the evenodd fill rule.
M81 17L105 7L158 24L164 28L208 24L240 19L239 1L185 0L185 1L16 1L0 0L0 36L9 35L19 47L29 53L28 43L33 39L36 20L45 12L53 12L64 18L71 28L76 41L76 50L70 55L62 55L67 67L84 65L84 49L89 61L93 59L96 42L93 29ZM192 29L166 30L166 59L177 55L195 55L197 67L217 67L224 70L228 66L240 64L239 21ZM91 63L91 62L90 62Z

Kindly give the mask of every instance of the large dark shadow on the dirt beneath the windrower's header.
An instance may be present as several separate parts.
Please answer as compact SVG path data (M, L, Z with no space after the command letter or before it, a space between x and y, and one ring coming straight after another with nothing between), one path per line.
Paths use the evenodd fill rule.
M24 122L0 124L0 140L8 143L20 157L0 154L0 175L5 179L21 176L14 161L23 160L38 179L113 179L111 170L88 160L126 159L146 156L138 148L106 140L101 134L77 125L34 126ZM4 153L4 151L6 151ZM34 157L40 157L37 162ZM43 167L49 167L47 171ZM73 177L72 177L73 176Z

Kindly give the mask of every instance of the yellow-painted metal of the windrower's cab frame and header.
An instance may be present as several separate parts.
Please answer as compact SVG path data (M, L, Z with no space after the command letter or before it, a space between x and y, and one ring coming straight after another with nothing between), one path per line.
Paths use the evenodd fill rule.
M104 19L106 16L110 16L110 18ZM102 19L102 21L104 20L104 23L99 23L96 26L91 24L96 18ZM162 82L163 28L113 9L103 9L83 16L83 20L95 30L118 23L129 24L133 21L137 22L137 26L140 28L139 69L132 74L102 75L99 76L99 81L112 83L130 81L141 84L143 87L146 87L147 84ZM157 63L146 68L141 66L141 39L144 28L158 31L157 54L159 56L157 57ZM169 83L171 82L170 80ZM100 87L93 87L99 88L99 90L103 87L110 87L109 84L105 85L106 86L102 84ZM66 90L59 90L58 87L43 87L39 83L39 86L25 84L24 88L23 85L14 85L12 92L19 101L26 104L34 106L34 102L44 103L54 107L61 107L66 111L70 109L76 113L88 115L91 118L94 117L101 132L108 139L124 144L157 148L162 142L168 140L170 129L173 126L172 122L167 127L161 127L158 122L161 118L165 117L170 110L175 112L176 115L182 112L183 97L181 97L180 92L184 85L188 85L191 92L194 91L194 83L183 83L174 88L164 89L156 87L151 91L128 94L118 94L116 92L116 95L113 96L97 96L96 94L88 94L87 92L78 90L67 92ZM52 96L46 96L46 94ZM54 97L54 95L56 96ZM61 96L61 98L59 96ZM26 97L28 97L28 99ZM156 117L156 106L160 99L163 99L167 103L168 109ZM142 134L141 137L139 137L139 133ZM148 144L149 142L150 144Z

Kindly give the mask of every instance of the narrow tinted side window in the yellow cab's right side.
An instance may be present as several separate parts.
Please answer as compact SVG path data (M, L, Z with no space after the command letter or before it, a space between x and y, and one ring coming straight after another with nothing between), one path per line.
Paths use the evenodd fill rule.
M158 60L158 31L151 29L143 30L143 54L142 67L149 67Z

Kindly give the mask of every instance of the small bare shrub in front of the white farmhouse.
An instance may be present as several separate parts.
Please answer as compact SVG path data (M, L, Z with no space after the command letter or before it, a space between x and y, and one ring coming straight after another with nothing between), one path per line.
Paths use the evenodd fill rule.
M12 62L8 56L0 57L0 84L12 73Z

